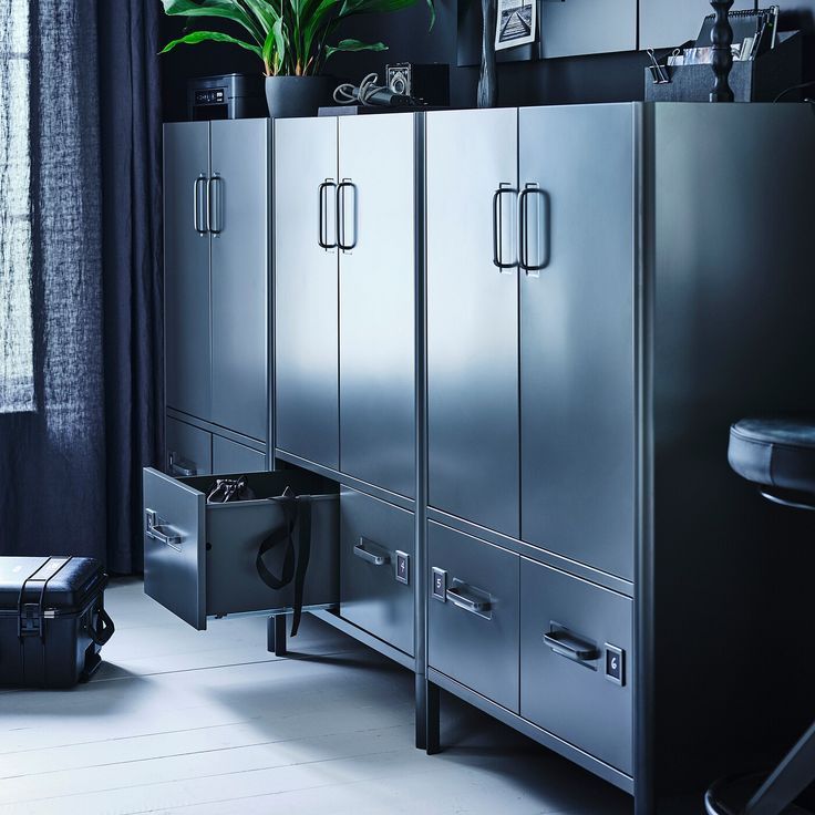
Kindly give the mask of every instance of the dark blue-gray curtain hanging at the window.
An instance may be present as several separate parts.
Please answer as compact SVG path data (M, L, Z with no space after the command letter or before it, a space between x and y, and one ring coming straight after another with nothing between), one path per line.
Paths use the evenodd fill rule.
M0 265L0 295L17 287L0 340L18 359L0 367L0 555L89 555L130 572L141 467L161 443L156 9L27 8L29 97L0 97L7 122L28 106L30 165L28 254Z

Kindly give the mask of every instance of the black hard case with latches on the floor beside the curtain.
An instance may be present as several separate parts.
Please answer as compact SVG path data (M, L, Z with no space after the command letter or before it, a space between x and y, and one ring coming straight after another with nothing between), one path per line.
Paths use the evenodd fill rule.
M0 557L0 685L70 688L87 680L113 633L102 564Z

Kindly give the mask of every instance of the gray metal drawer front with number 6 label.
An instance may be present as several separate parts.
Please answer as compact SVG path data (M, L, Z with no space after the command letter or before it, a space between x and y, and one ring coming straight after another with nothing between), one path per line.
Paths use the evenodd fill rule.
M520 715L631 775L631 600L522 558L520 609Z

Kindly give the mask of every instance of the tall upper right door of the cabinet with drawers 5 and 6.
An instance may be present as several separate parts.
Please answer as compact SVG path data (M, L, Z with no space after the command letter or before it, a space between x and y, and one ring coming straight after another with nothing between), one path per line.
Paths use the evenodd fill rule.
M632 579L633 109L519 115L522 537Z

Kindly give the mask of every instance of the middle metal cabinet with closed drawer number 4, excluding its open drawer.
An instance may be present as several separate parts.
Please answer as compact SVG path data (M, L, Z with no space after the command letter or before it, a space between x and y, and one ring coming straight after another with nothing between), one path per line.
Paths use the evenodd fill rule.
M275 454L341 485L323 618L411 668L422 121L275 123Z

